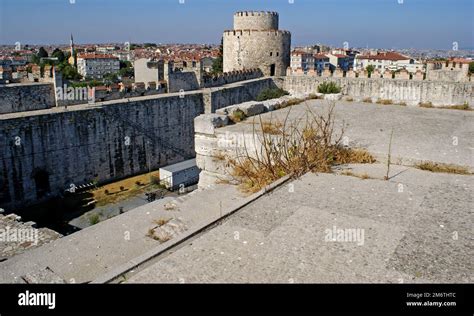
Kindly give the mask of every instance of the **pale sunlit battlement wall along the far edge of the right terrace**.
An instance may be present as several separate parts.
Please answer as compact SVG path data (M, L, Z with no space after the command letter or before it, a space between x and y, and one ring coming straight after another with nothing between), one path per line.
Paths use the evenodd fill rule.
M314 93L323 81L336 82L341 86L342 92L355 101L366 98L371 98L373 101L386 99L412 106L420 102L431 102L433 106L462 105L467 102L474 107L474 83L288 76L284 78L282 88L292 94Z

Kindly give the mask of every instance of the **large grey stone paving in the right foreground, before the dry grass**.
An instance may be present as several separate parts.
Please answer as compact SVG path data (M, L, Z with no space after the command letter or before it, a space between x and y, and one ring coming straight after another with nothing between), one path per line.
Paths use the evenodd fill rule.
M127 282L472 283L474 178L401 166L391 175L306 174ZM363 238L327 238L340 229Z

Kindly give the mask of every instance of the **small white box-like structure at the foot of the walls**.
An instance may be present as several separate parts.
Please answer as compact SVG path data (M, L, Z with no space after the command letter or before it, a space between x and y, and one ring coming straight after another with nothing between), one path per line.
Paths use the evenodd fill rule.
M186 160L160 168L160 183L170 190L187 187L199 181L200 172L196 159Z

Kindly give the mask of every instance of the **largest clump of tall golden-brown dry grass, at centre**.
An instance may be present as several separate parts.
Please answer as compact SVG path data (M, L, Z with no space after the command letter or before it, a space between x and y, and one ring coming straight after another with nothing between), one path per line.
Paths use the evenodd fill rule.
M344 148L341 139L344 128L336 133L332 102L326 115L316 115L309 108L306 114L289 121L288 111L277 134L256 130L254 147L245 146L236 158L229 159L231 175L242 184L246 192L257 192L290 175L299 177L307 172L332 172L332 167L347 163L372 163L375 159L366 151Z

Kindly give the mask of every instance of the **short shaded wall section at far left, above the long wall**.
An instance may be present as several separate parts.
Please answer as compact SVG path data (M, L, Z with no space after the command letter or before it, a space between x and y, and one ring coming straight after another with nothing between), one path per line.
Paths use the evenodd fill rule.
M55 106L53 84L12 84L0 87L0 114Z

